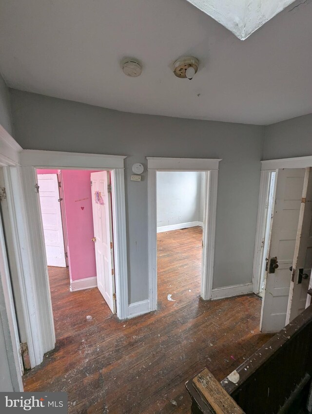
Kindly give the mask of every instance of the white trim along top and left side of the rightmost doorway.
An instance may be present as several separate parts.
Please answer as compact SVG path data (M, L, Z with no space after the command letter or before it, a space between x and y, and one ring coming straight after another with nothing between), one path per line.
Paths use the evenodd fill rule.
M269 191L269 180L272 171L281 168L306 168L312 167L312 155L306 157L281 158L275 160L261 161L261 176L259 189L259 203L257 227L254 244L254 267L253 267L253 289L254 293L259 293L259 284L261 278L261 257L262 257L262 240L265 234L266 226L266 203Z

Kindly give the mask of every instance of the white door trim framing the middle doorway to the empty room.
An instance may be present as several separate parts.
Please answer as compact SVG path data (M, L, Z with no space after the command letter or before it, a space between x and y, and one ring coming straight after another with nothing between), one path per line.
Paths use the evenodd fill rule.
M157 309L157 171L207 171L207 197L203 225L201 297L211 299L215 258L217 177L221 159L146 157L148 168L149 310Z

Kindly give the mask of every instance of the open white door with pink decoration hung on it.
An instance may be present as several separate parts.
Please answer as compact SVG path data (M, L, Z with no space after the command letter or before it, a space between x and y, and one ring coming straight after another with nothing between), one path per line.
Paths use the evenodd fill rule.
M116 313L112 201L109 171L91 173L98 290Z

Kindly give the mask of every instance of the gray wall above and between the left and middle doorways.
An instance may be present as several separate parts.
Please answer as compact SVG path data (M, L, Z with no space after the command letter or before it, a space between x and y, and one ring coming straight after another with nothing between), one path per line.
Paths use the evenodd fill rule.
M11 90L15 139L24 149L127 155L125 186L129 302L148 298L146 156L222 158L218 178L214 287L251 282L264 128L121 113Z

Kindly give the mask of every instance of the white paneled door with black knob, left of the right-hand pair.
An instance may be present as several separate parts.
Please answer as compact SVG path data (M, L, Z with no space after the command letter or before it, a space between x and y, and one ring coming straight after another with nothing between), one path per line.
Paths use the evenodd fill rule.
M279 169L275 176L273 218L262 300L260 330L277 332L286 324L291 271L305 169ZM270 269L277 260L278 267Z

